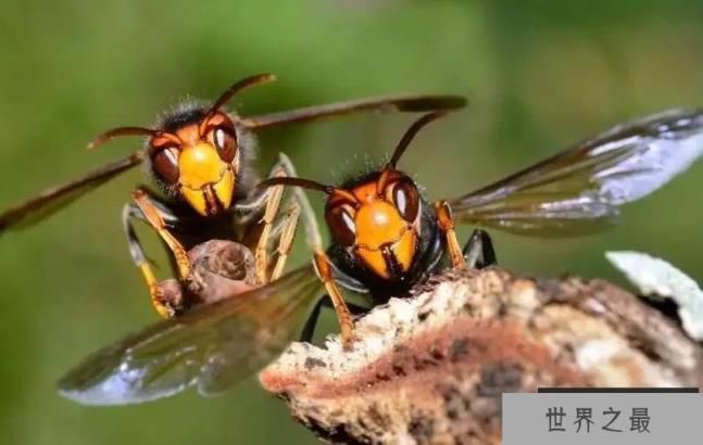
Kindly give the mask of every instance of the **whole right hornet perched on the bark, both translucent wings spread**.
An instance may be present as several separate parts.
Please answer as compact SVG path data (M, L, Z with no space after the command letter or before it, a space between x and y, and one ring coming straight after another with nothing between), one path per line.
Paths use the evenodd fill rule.
M163 320L88 357L61 380L61 393L84 404L122 405L189 386L202 394L221 392L280 354L313 303L325 301L318 300L325 288L336 290L335 281L377 292L375 300L381 302L387 296L384 285L407 290L442 267L447 252L455 265L494 260L480 232L461 252L450 216L525 234L586 233L613 224L619 205L664 186L703 152L703 114L674 110L616 126L493 185L432 206L396 164L415 134L440 116L416 122L385 168L340 187L292 178L264 182L263 187L283 183L327 193L325 215L332 236L327 252L314 218L307 226L325 287L313 265L306 265ZM351 317L343 301L336 303L349 340ZM312 314L318 310L319 304Z

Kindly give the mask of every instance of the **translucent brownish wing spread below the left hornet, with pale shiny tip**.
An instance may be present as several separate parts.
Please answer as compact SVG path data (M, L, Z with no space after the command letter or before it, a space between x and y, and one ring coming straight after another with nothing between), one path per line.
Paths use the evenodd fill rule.
M61 379L59 392L86 405L148 402L191 385L216 394L277 357L322 293L312 265L300 267L92 354Z

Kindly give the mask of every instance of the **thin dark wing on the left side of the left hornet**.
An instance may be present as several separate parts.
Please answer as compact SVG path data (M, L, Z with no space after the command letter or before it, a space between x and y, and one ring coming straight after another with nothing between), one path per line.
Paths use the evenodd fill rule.
M38 195L8 208L0 214L0 233L8 229L26 228L47 218L92 189L140 164L141 161L141 153L135 153L71 182L50 187Z

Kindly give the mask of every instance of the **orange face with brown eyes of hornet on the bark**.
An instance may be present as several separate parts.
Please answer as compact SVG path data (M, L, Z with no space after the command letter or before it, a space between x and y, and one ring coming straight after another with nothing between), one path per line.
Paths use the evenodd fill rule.
M325 216L335 240L384 279L411 268L419 230L417 188L405 175L387 169L351 190L335 190Z

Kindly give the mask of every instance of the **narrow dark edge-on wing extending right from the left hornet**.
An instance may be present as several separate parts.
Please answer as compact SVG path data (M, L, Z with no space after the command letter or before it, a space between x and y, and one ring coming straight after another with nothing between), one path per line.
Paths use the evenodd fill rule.
M341 116L365 111L424 112L455 110L465 105L466 98L462 96L385 96L246 117L241 119L241 123L249 128L262 128L294 122L319 119L323 117Z

